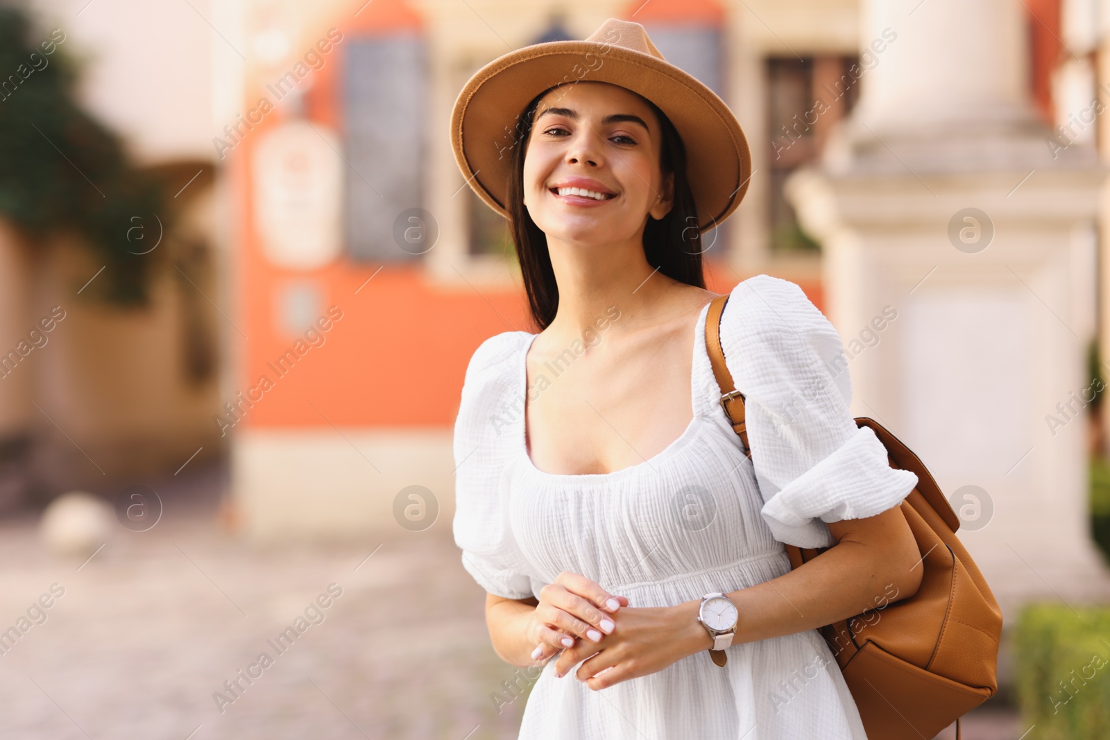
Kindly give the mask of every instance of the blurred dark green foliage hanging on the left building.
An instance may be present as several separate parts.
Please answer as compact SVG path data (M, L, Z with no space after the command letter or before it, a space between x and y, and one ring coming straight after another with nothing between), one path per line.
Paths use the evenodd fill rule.
M22 9L0 6L0 83L7 85L0 216L32 244L75 234L107 265L89 292L121 306L145 305L164 251L135 254L142 250L128 241L128 230L134 217L155 213L169 229L171 199L152 174L132 165L115 134L80 109L77 63L60 45L44 57L39 42L47 37L37 32ZM40 67L32 54L49 63Z

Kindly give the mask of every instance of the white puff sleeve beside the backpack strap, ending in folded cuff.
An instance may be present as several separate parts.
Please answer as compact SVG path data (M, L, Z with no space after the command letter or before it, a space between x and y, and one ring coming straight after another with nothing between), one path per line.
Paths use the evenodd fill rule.
M739 283L720 322L725 362L745 395L748 444L779 541L836 543L830 521L875 516L917 485L849 412L851 378L836 328L798 285L769 275Z

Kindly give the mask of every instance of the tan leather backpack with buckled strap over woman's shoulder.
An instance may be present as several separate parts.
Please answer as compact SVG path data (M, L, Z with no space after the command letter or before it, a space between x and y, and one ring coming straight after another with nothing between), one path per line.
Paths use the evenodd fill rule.
M736 389L720 346L720 316L728 296L714 298L706 316L706 348L733 428L744 442L744 394ZM1002 612L956 530L960 520L937 481L910 449L878 422L856 417L887 448L890 466L917 475L901 503L925 572L914 596L888 601L820 628L859 708L868 740L929 740L998 690ZM793 568L828 548L786 546Z

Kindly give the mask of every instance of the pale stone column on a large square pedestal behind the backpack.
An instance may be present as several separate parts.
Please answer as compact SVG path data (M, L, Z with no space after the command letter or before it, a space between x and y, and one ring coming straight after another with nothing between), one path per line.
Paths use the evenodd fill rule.
M928 466L1008 622L1029 599L1110 595L1082 401L1106 172L1035 115L1025 12L865 0L859 105L788 185L823 244L854 415Z

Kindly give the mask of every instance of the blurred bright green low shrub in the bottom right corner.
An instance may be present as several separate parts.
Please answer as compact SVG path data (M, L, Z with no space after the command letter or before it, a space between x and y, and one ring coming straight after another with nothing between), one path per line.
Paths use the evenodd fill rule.
M1013 646L1022 727L1039 740L1110 738L1110 606L1028 605Z

